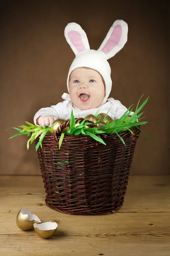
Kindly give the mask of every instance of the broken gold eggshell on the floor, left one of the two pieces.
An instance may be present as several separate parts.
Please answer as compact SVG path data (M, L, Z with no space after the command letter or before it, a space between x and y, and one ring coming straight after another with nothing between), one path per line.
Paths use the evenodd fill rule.
M35 215L31 214L27 208L21 208L17 214L16 224L21 230L33 229L34 223L41 223L40 219Z

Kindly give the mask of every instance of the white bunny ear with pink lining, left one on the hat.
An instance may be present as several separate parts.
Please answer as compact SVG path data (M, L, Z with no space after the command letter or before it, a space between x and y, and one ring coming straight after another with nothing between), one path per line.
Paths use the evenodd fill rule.
M68 23L65 27L64 34L75 55L85 49L90 49L87 35L79 24L74 22Z

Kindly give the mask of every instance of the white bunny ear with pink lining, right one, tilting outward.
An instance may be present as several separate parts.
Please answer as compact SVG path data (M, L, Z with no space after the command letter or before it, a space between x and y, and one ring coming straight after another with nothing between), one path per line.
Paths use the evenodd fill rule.
M98 51L105 53L107 59L119 52L127 42L128 26L124 20L116 20Z

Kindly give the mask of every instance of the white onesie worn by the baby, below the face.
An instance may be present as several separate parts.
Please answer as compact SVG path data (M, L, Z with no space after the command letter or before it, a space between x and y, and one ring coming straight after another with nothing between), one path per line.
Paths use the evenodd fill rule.
M111 116L113 119L120 119L120 117L127 111L127 108L124 105L122 105L122 103L119 100L115 100L113 98L109 98L107 102L100 105L98 108L92 108L87 110L81 110L77 108L71 101L68 93L63 93L62 99L64 99L64 101L59 102L57 105L52 105L51 107L47 108L41 108L39 111L37 111L37 113L34 116L34 124L37 125L36 119L39 116L54 115L57 117L57 119L70 119L72 109L75 118L85 117L88 114L95 114L99 109L99 113L107 113L108 110L111 108L108 112L108 115ZM132 114L133 112L131 112L129 115L131 116Z

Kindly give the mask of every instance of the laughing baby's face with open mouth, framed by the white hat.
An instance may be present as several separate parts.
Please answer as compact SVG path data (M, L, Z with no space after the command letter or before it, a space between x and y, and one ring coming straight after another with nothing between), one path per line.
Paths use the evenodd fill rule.
M71 101L81 110L99 107L105 97L105 83L96 70L78 67L71 72L69 81Z

